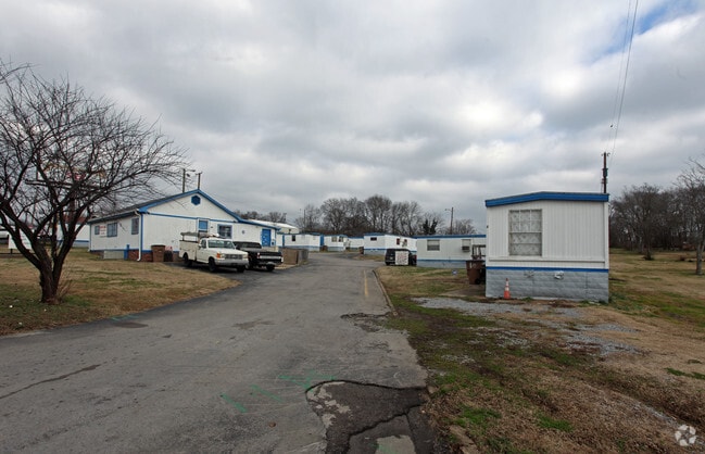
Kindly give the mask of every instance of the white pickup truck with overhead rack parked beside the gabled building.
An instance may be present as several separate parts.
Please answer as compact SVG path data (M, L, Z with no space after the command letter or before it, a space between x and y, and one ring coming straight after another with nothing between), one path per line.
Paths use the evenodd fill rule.
M193 237L193 240L187 240ZM211 272L219 267L236 268L238 273L244 272L249 265L248 253L235 248L231 240L218 237L205 237L198 239L196 234L184 232L179 241L179 254L186 266L193 266L194 263L209 265Z

